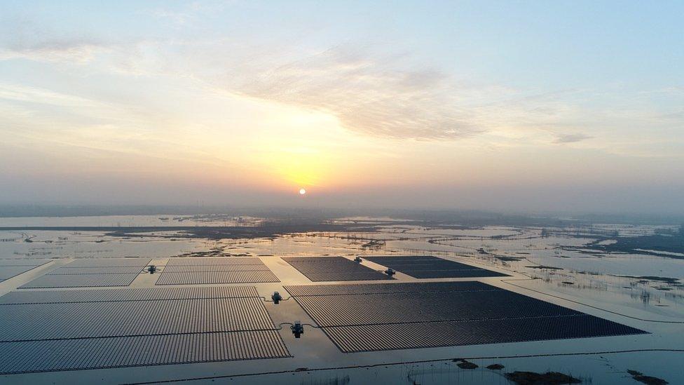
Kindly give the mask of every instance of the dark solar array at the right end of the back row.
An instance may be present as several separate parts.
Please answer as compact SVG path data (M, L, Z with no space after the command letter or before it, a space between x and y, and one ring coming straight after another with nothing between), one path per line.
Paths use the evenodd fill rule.
M365 257L371 262L391 267L413 278L477 278L477 277L505 277L507 274L498 273L477 266L462 264L432 257L430 255L415 256L373 256Z

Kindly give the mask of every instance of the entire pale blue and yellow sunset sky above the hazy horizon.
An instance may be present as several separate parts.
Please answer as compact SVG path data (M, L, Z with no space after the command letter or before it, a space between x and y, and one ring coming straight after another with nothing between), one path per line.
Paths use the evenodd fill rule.
M0 203L682 214L684 3L0 0L0 138Z

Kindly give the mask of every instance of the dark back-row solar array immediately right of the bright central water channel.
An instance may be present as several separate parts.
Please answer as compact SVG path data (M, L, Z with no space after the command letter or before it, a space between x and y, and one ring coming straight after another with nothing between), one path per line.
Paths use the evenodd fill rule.
M378 281L390 279L385 274L343 257L282 257L313 282Z

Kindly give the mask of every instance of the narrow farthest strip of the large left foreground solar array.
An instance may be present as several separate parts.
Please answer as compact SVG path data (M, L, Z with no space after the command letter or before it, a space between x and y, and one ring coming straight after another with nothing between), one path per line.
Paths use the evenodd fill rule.
M104 290L15 291L0 297L1 304L53 304L64 302L158 301L259 297L254 286L200 288L139 288Z

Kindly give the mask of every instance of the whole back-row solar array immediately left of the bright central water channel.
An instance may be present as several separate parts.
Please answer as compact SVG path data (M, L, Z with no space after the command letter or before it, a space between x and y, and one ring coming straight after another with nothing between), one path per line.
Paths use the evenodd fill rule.
M170 258L156 285L280 282L268 266L255 257Z

